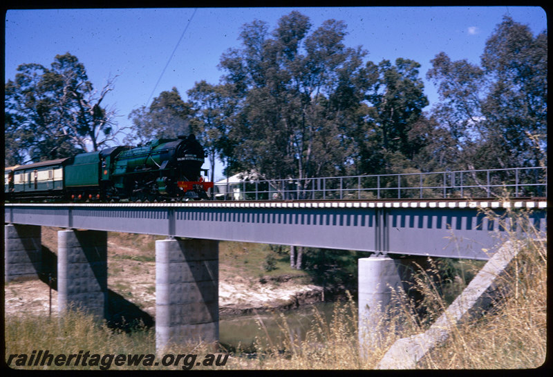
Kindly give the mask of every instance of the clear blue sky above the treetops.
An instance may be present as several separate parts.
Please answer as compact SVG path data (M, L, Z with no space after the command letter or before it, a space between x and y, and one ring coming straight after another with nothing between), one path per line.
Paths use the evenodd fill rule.
M149 104L162 90L176 86L186 100L186 91L196 81L217 84L223 75L217 68L221 55L240 47L244 23L259 19L272 31L292 10L308 16L312 30L326 19L343 20L349 33L346 46L363 46L366 60L418 61L431 103L425 110L438 101L425 75L439 52L478 64L485 41L504 15L527 24L534 35L547 28L545 11L538 7L8 10L5 81L15 78L20 64L49 67L55 55L70 52L84 64L97 90L118 76L104 105L117 110L120 126L129 126L131 110Z

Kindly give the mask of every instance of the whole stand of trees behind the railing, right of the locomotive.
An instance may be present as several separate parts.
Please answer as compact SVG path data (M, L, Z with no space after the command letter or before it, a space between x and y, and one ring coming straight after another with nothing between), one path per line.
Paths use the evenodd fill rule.
M268 179L545 160L546 32L533 37L506 17L480 66L436 55L427 77L441 101L429 113L418 62L364 61L367 51L346 46L346 35L342 21L312 30L296 11L272 32L263 21L245 24L241 46L221 57L221 84L189 91L212 159L227 160L227 173Z

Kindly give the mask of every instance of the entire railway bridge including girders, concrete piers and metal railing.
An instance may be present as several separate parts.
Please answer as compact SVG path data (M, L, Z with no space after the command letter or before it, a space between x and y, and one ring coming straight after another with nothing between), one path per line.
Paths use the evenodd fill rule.
M59 311L79 305L105 316L107 231L165 235L155 250L160 349L191 338L218 340L219 240L366 251L368 258L358 261L362 334L389 302L389 286L400 287L413 262L424 264L429 256L489 260L507 235L525 237L523 229L532 226L545 237L547 225L547 166L242 177L215 189L214 197L232 200L6 203L6 281L41 269L40 226L64 228L58 233ZM513 220L522 211L527 218Z

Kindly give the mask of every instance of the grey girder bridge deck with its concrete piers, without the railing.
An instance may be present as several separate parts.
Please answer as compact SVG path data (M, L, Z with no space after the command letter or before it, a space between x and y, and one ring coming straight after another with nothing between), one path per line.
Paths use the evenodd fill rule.
M6 281L36 275L40 226L57 226L59 311L75 304L104 316L107 231L156 241L156 347L218 340L218 241L366 251L359 260L359 318L389 300L386 284L416 258L488 260L521 224L545 233L545 200L293 200L185 203L4 204ZM494 213L490 217L483 211ZM420 262L420 259L419 259ZM367 326L366 322L359 322ZM369 322L370 325L370 322Z

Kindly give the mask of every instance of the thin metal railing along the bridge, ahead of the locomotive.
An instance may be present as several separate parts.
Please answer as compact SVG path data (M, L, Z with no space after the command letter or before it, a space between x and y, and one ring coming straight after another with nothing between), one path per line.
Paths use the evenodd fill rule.
M371 200L449 197L547 197L547 166L244 180L215 184L221 200Z

